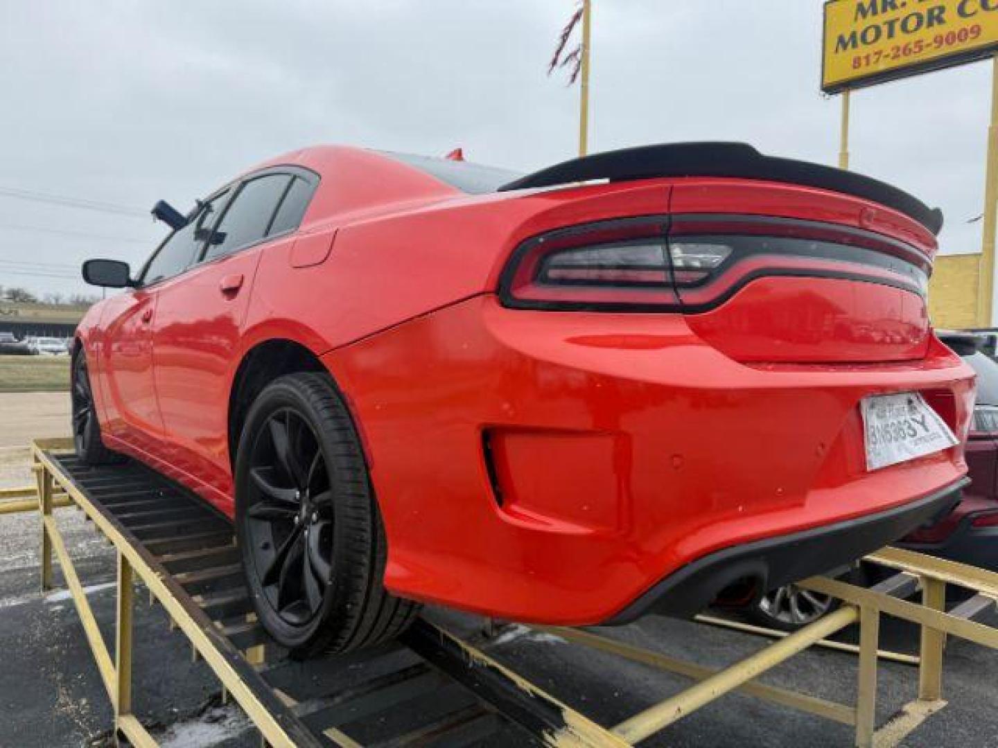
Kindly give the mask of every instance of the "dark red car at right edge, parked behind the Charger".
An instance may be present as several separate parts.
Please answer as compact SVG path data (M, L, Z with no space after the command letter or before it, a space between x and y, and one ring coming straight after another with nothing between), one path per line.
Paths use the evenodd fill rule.
M966 447L971 484L953 511L906 536L896 545L911 551L998 571L998 363L991 332L938 331L939 339L977 374L977 400ZM868 581L868 570L847 574ZM744 612L753 622L796 630L835 606L828 595L786 584L766 592Z

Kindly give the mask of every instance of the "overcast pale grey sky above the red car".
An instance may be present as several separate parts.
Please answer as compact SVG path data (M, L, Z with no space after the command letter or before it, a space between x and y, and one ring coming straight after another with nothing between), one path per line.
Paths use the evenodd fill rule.
M0 0L0 285L87 290L79 263L140 264L140 213L316 143L534 170L574 156L578 90L546 76L573 0ZM818 92L821 0L594 0L593 151L748 142L834 164ZM853 96L853 169L941 206L944 251L976 250L990 69ZM44 230L42 230L44 229ZM84 235L86 234L86 235ZM30 264L29 264L30 263ZM38 275L72 277L48 277ZM26 274L36 273L36 274Z

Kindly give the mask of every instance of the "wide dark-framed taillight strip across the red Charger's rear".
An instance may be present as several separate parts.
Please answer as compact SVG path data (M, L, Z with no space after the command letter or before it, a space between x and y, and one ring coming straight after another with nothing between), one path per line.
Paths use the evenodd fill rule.
M642 216L528 239L503 272L507 306L699 312L757 277L841 277L924 297L928 258L831 223L745 215Z

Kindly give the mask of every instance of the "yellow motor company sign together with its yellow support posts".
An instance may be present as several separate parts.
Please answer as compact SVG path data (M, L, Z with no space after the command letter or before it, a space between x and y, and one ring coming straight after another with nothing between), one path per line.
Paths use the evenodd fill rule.
M821 90L842 94L838 163L849 164L853 89L994 58L977 322L993 323L998 237L998 0L828 0Z

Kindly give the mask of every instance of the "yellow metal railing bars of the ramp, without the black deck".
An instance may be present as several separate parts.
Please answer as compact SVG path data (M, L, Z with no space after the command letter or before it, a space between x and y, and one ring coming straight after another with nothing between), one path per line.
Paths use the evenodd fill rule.
M215 670L226 692L247 712L264 740L274 746L300 744L300 739L292 739L285 725L274 716L275 709L279 711L280 706L293 705L293 700L279 691L269 692L278 704L277 707L266 699L261 700L259 692L248 685L247 671L234 665L236 660L226 648L227 645L231 648L231 645L228 642L220 645L219 637L213 635L211 626L192 617L178 597L176 584L171 586L172 580L164 577L162 568L158 572L150 565L147 559L148 552L123 536L116 523L95 507L88 496L76 486L73 479L63 472L53 457L56 454L53 451L67 446L50 442L36 445L33 455L37 487L32 490L5 490L4 494L0 494L0 513L7 506L4 502L28 503L39 510L42 519L42 587L49 589L52 586L52 560L55 558L63 569L66 584L80 614L87 640L94 651L98 669L114 705L117 730L127 736L134 745L156 745L155 740L132 713L133 583L141 580L149 588L151 597L163 604L175 625L188 636L198 655ZM30 497L31 493L34 494L33 499ZM67 504L82 509L94 522L96 529L111 540L117 549L117 635L113 653L109 651L101 636L93 610L53 515L55 507ZM946 612L947 585L956 584L973 590L985 601L998 600L998 573L897 549L885 549L867 557L866 561L907 574L908 589L914 588L911 580L917 579L921 589L921 600L915 602L903 599L900 594L894 596L888 591L882 591L887 587L881 588L880 585L877 588L866 588L823 576L797 582L802 588L839 598L843 606L797 632L782 634L779 640L726 668L711 668L688 662L585 629L535 626L570 642L610 652L696 681L696 684L690 688L625 719L609 730L543 694L548 703L555 704L562 710L567 725L558 735L549 735L550 739L547 742L552 745L571 743L601 746L639 743L726 694L739 691L781 706L853 726L857 746L886 747L899 744L928 715L945 705L942 701L942 670L947 636L958 636L998 649L998 629ZM878 648L882 614L896 616L921 627L918 657L884 652ZM858 625L858 646L826 640L827 636L852 624ZM751 634L774 633L757 627L744 628L747 629L746 633ZM749 628L752 630L748 630ZM444 631L438 631L438 634L450 636ZM461 647L462 662L470 665L477 663L480 668L488 668L493 673L499 673L525 692L536 689L536 686L528 680L490 659L480 650L456 638L454 642ZM815 644L849 649L858 654L857 693L854 704L839 703L758 682L760 675ZM905 706L898 717L877 730L876 684L878 661L881 658L918 665L918 698ZM242 656L240 661L245 664ZM253 673L250 673L250 676L252 675ZM338 730L325 731L325 737L340 745L356 745Z

